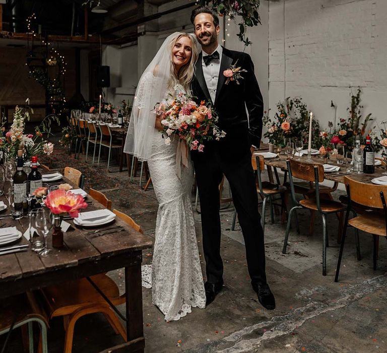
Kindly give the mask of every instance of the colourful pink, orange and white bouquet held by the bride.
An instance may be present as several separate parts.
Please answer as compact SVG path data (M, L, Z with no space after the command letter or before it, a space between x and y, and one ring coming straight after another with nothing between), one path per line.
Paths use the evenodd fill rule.
M178 91L177 88L175 90ZM211 104L202 101L198 105L183 92L162 102L156 108L156 113L162 115L161 125L166 145L177 136L186 142L190 150L203 152L205 141L214 138L219 141L226 136L216 125L218 117Z

